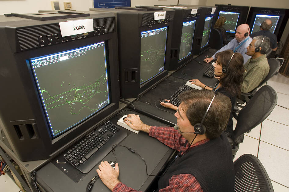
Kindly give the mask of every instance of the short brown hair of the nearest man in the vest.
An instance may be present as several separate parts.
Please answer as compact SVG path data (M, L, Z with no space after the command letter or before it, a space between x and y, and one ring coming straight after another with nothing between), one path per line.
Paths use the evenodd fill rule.
M190 90L181 94L181 108L191 125L200 123L215 93L212 90ZM217 138L225 130L231 113L230 99L216 92L216 96L203 122L205 135L209 139ZM192 130L193 131L193 130Z

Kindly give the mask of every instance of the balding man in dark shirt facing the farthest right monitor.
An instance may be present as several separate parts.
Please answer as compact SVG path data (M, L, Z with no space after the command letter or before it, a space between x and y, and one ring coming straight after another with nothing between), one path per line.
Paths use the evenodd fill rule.
M269 37L270 39L270 46L272 48L272 51L276 51L278 46L277 46L277 37L275 34L270 32L270 29L272 28L272 20L266 19L262 22L260 26L260 31L252 33L250 36L256 37L259 35Z

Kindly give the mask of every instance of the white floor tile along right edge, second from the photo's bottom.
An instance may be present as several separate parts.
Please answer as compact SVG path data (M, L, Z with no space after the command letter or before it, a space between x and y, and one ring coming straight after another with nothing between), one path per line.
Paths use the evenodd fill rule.
M289 187L289 151L261 141L258 159L271 180Z

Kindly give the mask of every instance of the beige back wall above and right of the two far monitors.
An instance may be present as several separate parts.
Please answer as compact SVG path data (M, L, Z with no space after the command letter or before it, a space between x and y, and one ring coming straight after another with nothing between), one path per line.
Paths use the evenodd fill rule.
M272 8L282 8L289 9L288 0L242 0L242 1L232 1L232 0L207 0L208 6L214 6L215 4L229 4L238 5L238 6L250 6L250 7L272 7ZM281 41L285 43L289 33L289 20L283 31Z

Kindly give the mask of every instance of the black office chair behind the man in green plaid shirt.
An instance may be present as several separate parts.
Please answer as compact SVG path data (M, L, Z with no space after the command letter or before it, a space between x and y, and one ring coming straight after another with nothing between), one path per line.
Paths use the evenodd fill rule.
M250 101L250 98L256 93L257 89L259 87L261 87L264 83L266 83L269 79L271 79L271 77L273 77L273 75L275 75L275 73L279 70L280 68L280 62L275 59L275 58L270 58L268 59L268 64L269 64L269 73L268 75L265 77L265 79L258 85L258 87L256 87L254 90L251 90L249 93L241 93L241 97L243 96L242 99L240 98L237 98L237 103L235 105L235 108L234 108L234 112L235 113L239 113L239 109L238 107L241 107L243 108L243 105L241 104L244 104L244 103L247 103ZM234 113L233 113L234 115Z

